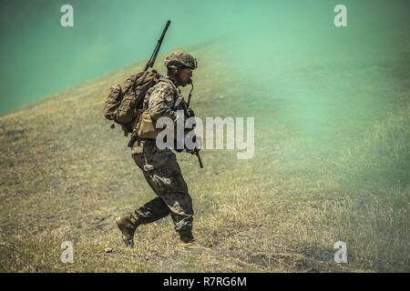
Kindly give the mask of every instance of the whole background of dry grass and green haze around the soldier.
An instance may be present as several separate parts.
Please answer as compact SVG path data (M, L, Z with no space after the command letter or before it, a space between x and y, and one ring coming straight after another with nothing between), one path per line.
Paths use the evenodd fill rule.
M409 271L408 0L83 0L62 28L65 3L1 5L2 112L62 92L0 118L0 271ZM200 169L178 156L211 246L201 256L174 251L168 219L138 229L134 250L114 222L153 194L102 105L167 19L162 52L199 59L197 116L255 117L250 160L204 149ZM66 240L75 264L59 264Z

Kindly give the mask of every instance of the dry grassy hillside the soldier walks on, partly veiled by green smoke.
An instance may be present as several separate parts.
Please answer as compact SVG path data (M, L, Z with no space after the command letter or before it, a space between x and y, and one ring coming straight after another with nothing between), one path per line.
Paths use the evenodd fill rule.
M128 138L102 116L110 85L140 63L0 117L0 271L410 271L410 78L400 55L363 64L347 56L324 65L314 56L295 60L284 73L314 85L313 97L301 100L307 93L294 84L272 90L280 79L227 66L215 47L192 51L200 59L197 115L255 117L251 160L204 150L200 169L194 156L178 155L194 234L210 252L176 250L169 217L141 226L134 249L115 226L116 216L154 196ZM374 66L398 72L384 88L391 102L383 108L369 98L374 89L355 80ZM352 84L344 99L314 97L338 78ZM74 264L65 265L67 240ZM347 244L347 264L333 261L336 241Z

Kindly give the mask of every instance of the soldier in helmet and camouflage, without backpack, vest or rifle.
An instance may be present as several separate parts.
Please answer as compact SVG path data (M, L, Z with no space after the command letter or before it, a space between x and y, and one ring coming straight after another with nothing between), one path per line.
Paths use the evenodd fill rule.
M174 51L166 58L164 65L167 66L168 76L149 88L145 95L144 108L148 109L153 122L162 116L176 122L179 117L175 108L175 102L180 95L178 87L190 84L197 61L184 51ZM178 246L201 248L192 235L192 199L175 154L169 148L159 149L155 139L141 138L134 143L131 152L157 197L133 213L117 218L116 222L126 246L134 246L134 234L138 226L170 214L179 234Z

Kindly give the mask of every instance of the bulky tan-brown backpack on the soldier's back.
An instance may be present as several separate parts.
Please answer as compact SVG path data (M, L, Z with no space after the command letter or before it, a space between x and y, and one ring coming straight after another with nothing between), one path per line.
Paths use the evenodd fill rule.
M111 128L115 127L115 123L121 125L126 136L134 131L138 117L143 112L144 96L149 88L159 80L164 80L156 70L151 70L141 82L140 78L145 73L146 71L142 71L130 75L123 87L113 85L104 103L103 115L113 121Z

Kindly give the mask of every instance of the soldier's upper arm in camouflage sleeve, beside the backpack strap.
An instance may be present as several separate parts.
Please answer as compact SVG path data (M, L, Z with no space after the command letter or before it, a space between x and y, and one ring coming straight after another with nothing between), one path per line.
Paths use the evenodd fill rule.
M173 121L177 114L172 109L174 105L174 90L169 85L158 85L149 96L149 115L154 121L167 116Z

